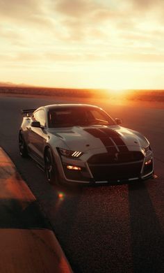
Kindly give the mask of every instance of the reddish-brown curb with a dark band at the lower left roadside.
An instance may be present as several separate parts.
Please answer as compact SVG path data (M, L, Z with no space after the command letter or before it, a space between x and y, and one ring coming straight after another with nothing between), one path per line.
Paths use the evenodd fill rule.
M36 198L0 147L0 272L72 273Z

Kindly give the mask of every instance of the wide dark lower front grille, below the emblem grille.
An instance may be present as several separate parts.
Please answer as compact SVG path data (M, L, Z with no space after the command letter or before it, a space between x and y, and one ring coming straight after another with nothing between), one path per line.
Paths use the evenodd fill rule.
M96 181L110 181L110 179L129 179L140 177L142 161L115 165L92 165L89 168Z

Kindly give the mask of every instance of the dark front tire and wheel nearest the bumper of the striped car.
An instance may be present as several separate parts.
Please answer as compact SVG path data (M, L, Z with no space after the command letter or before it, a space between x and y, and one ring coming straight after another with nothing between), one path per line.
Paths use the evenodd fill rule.
M50 184L58 184L57 169L54 162L54 157L51 153L51 149L47 149L44 156L44 169L47 178L47 182Z

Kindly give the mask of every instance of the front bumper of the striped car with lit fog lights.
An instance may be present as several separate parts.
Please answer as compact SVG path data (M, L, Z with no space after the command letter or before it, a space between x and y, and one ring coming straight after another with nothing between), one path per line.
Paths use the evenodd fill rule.
M151 158L151 163L145 165ZM81 170L68 170L67 165L76 165ZM67 183L110 184L149 179L154 174L152 152L142 160L124 163L90 163L80 158L60 156L60 175Z

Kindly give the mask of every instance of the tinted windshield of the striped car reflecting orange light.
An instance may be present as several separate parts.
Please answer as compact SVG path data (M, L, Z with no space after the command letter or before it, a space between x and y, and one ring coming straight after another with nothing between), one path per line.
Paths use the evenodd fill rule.
M56 108L49 110L49 127L115 125L115 121L99 108Z

